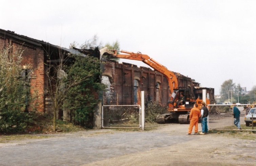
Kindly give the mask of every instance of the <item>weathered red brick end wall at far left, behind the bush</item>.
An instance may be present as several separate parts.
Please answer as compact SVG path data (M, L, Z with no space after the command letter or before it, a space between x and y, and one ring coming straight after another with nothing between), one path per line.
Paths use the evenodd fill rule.
M12 52L18 49L23 50L23 60L21 65L24 69L32 70L31 74L31 94L37 95L37 106L29 111L44 111L44 51L39 44L31 44L17 38L7 37L0 34L0 49L12 46Z

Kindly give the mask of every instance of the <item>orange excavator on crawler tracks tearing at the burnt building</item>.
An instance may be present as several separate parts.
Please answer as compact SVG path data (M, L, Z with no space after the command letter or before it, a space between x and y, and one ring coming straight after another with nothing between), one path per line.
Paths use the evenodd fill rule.
M178 121L181 124L189 123L189 112L193 108L194 104L198 103L198 108L200 109L202 101L205 101L206 105L208 105L210 104L210 96L214 98L213 88L195 87L193 84L187 85L187 87L179 87L178 79L175 72L168 70L165 66L161 65L146 54L142 54L140 52L128 52L123 50L109 50L106 48L104 48L104 51L101 50L101 52L103 52L101 53L101 56L106 55L109 58L123 58L142 61L143 63L152 67L154 70L162 73L167 78L171 90L171 95L168 100L169 113L158 115L158 117L156 118L157 123L166 123L169 120ZM118 52L125 54L118 54ZM188 77L186 77L186 79L187 78ZM184 96L182 101L180 101L181 94ZM195 99L195 94L197 95L197 99Z

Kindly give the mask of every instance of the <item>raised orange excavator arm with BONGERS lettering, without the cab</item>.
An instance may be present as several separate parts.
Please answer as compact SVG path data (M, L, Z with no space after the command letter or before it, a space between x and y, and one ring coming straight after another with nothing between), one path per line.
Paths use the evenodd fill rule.
M156 71L165 75L165 77L169 82L171 93L173 93L174 89L178 88L178 80L176 75L172 71L168 70L165 66L155 61L153 58L150 58L148 55L141 54L140 52L134 53L134 52L128 52L123 50L121 51L107 50L107 52L108 52L108 57L142 61L143 63L154 68ZM117 54L117 52L126 53L126 54Z

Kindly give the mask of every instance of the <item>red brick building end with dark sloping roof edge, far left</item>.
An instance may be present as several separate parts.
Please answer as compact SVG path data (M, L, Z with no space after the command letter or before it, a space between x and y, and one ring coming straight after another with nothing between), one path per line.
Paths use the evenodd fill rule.
M31 93L37 93L37 106L33 108L34 111L45 112L46 104L44 90L46 88L46 74L45 67L49 60L57 59L59 52L71 52L74 54L80 53L73 49L61 48L50 43L28 38L23 35L16 34L12 31L0 29L0 50L11 47L11 53L18 49L22 49L23 60L21 65L26 70L31 70L30 82Z

